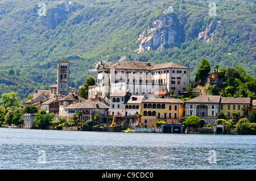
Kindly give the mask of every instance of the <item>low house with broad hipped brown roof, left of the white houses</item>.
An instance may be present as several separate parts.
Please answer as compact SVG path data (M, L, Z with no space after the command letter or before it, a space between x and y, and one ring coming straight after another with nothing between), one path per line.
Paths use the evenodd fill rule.
M73 115L81 111L81 122L94 120L94 115L99 114L101 117L100 122L106 123L106 116L108 116L109 112L109 102L108 100L98 97L89 98L79 103L70 104L68 107L65 107L65 110L68 121L73 117Z

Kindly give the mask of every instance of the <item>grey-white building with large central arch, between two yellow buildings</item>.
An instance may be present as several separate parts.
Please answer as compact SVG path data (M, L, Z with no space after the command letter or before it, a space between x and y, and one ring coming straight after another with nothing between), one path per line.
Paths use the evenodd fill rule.
M200 127L206 127L208 123L215 124L220 110L219 95L200 95L196 98L185 101L186 116L197 116L201 119Z

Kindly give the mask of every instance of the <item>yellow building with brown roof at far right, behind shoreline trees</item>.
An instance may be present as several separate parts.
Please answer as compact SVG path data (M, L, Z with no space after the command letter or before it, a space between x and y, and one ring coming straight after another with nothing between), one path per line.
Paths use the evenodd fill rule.
M247 116L245 115L245 111L243 111L243 108L250 106L250 98L224 98L221 97L220 102L220 111L223 111L226 113L228 118L232 118L232 112L237 112L240 117Z

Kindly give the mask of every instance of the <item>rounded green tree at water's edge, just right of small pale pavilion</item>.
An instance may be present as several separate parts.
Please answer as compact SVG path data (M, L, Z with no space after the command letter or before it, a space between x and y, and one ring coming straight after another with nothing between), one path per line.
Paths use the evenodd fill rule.
M53 113L46 113L45 110L42 110L36 113L36 119L34 120L34 123L36 126L38 126L39 129L46 129L46 127L50 125L53 117Z

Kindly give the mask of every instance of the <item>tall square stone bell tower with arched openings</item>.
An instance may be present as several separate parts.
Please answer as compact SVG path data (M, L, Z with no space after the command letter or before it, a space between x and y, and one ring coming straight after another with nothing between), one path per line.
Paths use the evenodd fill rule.
M57 94L68 95L69 92L69 62L63 58L57 66Z

